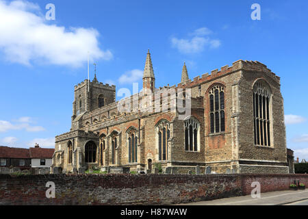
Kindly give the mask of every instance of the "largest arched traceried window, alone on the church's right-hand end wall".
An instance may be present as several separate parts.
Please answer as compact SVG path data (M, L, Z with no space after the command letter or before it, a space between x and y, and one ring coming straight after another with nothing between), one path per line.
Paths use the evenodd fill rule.
M255 145L270 146L270 89L263 82L253 86Z

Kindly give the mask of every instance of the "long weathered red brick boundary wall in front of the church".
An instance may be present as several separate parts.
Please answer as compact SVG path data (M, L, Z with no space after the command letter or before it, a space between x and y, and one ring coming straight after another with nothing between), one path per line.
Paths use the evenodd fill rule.
M0 205L168 205L288 190L308 175L0 175ZM47 198L46 183L55 183Z

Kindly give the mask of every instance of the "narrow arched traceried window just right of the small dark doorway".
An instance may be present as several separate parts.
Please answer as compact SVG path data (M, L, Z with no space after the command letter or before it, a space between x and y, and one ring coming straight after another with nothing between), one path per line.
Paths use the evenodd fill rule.
M158 159L168 159L168 139L170 138L170 123L162 120L157 125L157 138L158 138Z

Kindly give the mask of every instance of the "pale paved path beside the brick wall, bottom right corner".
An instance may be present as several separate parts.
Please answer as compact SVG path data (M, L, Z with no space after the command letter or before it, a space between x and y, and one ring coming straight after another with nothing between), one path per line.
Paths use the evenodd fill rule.
M266 192L261 193L261 198L248 195L181 205L308 205L308 190Z

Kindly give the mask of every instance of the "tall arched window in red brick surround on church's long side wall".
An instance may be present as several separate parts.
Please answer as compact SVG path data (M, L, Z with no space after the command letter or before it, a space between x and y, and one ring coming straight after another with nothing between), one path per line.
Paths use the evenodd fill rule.
M209 90L210 133L225 131L224 126L224 87L215 85Z

